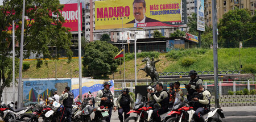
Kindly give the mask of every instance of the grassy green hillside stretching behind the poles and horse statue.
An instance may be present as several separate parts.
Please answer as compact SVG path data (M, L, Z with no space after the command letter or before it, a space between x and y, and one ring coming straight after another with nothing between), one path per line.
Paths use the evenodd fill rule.
M240 70L240 54L239 48L222 48L218 49L218 70ZM132 57L131 57L132 58ZM144 67L141 62L143 58L137 58L137 70ZM162 53L158 57L160 61L156 63L158 72L169 71L210 71L213 70L213 49L186 49L181 51L171 51ZM67 60L57 61L57 77L79 77L78 59L73 59L71 64L67 64ZM26 61L30 63L30 69L23 71L24 78L55 78L55 61L48 61L48 68L43 65L42 68L36 69L36 61ZM256 73L256 48L241 48L241 64L243 70ZM123 78L123 65L119 66L114 73L114 79ZM48 74L47 74L48 73ZM145 77L144 71L139 71L137 78ZM113 78L113 75L109 76ZM126 61L126 79L134 78L134 59Z

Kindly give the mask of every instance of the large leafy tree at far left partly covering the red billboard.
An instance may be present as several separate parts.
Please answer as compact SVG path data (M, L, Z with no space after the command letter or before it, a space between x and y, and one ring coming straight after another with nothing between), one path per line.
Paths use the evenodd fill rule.
M56 46L57 49L64 49L67 52L69 61L71 61L72 51L69 48L71 43L71 32L67 28L62 27L64 18L60 14L60 9L63 9L59 0L30 0L26 1L25 15L28 20L24 24L24 58L30 56L31 53L36 54L36 58L53 58L48 47ZM55 15L49 14L49 10ZM13 20L17 20L15 40L20 44L21 36L21 21L22 21L22 1L20 0L5 0L0 6L0 95L3 89L10 86L12 74L11 59L12 53L12 35L9 32L9 27ZM16 56L19 56L19 49L16 48ZM57 56L59 57L59 56ZM57 58L56 57L56 58ZM20 59L22 60L22 59ZM16 60L18 61L18 60ZM40 67L41 60L38 60ZM16 68L19 69L19 68ZM16 74L17 71L16 71Z

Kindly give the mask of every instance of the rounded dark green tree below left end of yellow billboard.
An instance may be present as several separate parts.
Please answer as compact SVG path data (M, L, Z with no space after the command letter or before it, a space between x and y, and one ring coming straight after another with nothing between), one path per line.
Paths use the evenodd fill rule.
M83 77L108 79L109 74L117 71L119 60L114 60L116 54L118 54L118 48L106 41L88 43L85 46L82 61Z

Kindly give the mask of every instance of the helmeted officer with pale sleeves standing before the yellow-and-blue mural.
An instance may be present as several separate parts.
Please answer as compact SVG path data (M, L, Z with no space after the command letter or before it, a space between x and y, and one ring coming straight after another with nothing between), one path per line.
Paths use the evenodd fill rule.
M96 100L100 100L100 106L108 107L109 108L109 117L106 117L106 121L110 121L111 115L112 115L112 109L115 105L114 103L114 94L112 91L110 91L111 83L109 81L104 82L104 89L98 91L96 95ZM114 111L116 111L117 108L114 106Z

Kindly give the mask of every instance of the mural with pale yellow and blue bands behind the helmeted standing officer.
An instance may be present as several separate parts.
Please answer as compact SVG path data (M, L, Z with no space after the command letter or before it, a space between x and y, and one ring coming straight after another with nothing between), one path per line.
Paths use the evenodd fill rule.
M103 83L105 81L109 81L112 86L110 86L110 90L114 92L114 81L113 80L102 80L102 79L82 79L82 98L84 95L88 95L90 91L93 96L97 95L99 90L104 89ZM72 92L75 96L75 100L79 98L79 81L72 82Z

